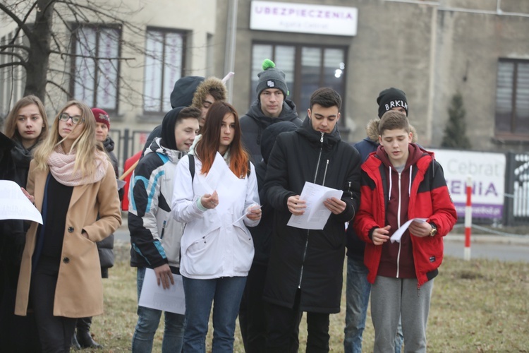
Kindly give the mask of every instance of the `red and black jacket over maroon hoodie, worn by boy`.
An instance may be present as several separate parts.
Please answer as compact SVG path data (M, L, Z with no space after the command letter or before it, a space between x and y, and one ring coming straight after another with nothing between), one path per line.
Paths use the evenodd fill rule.
M408 162L400 176L391 167L382 147L362 164L360 209L353 227L358 237L366 242L364 263L369 270L367 280L370 283L374 283L377 275L382 273L388 277L408 277L406 273L411 272L411 261L418 287L431 280L437 275L437 268L443 260L442 238L457 221L443 169L434 160L434 154L422 150L415 143L411 143L409 148ZM434 237L415 237L408 231L401 245L391 242L373 244L371 237L375 228L389 224L391 236L399 227L399 222L402 224L404 220L417 217L433 222L437 226L437 234ZM406 245L406 241L410 241L410 246Z

